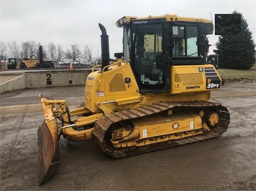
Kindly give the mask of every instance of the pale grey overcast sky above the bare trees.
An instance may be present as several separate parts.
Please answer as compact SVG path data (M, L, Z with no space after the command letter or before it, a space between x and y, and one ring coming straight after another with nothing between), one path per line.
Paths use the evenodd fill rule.
M242 12L246 18L254 41L256 38L255 0L184 0L184 1L38 1L0 0L0 40L15 40L19 45L34 40L47 47L49 42L62 49L71 49L77 44L83 51L85 45L92 49L92 56L101 55L101 30L98 23L105 26L109 35L110 57L122 52L123 30L115 22L123 16L177 16L211 19L214 14L230 14L233 10ZM217 35L208 35L210 53L218 41ZM96 53L96 54L95 54Z

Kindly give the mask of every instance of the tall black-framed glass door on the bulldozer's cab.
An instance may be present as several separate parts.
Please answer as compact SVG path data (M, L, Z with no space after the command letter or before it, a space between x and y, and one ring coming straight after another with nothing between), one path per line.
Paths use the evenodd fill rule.
M164 93L165 70L156 59L165 55L164 23L132 26L132 67L141 93Z

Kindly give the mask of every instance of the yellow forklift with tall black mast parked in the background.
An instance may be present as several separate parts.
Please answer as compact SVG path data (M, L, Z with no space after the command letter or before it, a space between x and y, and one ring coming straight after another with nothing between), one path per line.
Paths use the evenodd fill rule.
M54 68L54 61L44 61L42 57L42 46L39 47L39 59L36 58L36 55L29 55L28 58L24 58L16 64L17 69L26 69L29 68Z

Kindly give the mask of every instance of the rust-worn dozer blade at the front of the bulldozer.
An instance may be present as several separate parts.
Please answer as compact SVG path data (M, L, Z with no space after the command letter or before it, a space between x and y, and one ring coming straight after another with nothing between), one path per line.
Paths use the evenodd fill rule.
M58 128L56 119L42 125L37 130L38 139L38 185L46 181L60 164Z

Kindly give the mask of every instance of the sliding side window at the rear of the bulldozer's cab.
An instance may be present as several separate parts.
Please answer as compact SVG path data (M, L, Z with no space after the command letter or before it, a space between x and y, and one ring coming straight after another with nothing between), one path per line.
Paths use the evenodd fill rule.
M173 26L173 56L198 56L198 27Z

